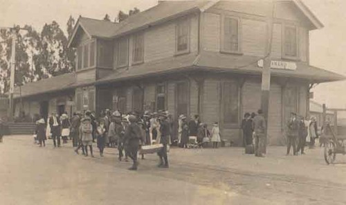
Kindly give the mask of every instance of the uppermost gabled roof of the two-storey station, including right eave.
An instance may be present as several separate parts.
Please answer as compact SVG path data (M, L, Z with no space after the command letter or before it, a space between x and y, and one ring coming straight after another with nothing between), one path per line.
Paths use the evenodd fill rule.
M316 18L315 15L313 15L311 10L309 10L309 8L302 3L302 1L288 1L292 1L295 6L302 11L302 13L311 22L311 25L313 25L313 28L323 27L323 24ZM190 12L204 12L208 8L214 6L217 2L219 1L159 1L158 5L143 12L139 12L136 15L132 15L120 23L80 17L75 25L73 35L71 35L71 39L69 39L69 46L71 46L73 39L75 38L75 34L78 30L80 30L80 28L82 28L82 30L84 30L89 37L114 38L135 32L136 30L143 30L149 26L161 24L165 21L186 15Z

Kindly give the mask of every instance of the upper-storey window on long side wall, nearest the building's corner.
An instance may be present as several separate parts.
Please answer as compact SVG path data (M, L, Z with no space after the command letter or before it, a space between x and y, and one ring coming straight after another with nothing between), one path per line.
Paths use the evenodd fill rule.
M190 51L190 21L183 20L176 24L176 53Z

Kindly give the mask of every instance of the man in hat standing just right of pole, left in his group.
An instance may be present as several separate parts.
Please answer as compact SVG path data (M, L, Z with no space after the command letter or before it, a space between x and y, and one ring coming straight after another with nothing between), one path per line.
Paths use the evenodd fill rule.
M298 138L298 130L299 122L297 119L297 114L291 112L291 118L287 123L287 155L289 155L289 151L291 150L291 146L293 147L293 155L297 155L295 149L295 141Z

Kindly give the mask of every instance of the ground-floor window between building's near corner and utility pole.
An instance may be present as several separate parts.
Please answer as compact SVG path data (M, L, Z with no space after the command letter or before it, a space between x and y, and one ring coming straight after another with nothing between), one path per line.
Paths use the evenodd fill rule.
M224 82L223 112L225 125L239 125L239 87L237 82Z

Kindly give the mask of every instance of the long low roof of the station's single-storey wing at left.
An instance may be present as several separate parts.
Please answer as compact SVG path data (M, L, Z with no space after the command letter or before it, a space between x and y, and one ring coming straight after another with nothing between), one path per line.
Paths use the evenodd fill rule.
M71 85L75 83L75 73L65 73L52 78L46 78L37 82L30 82L21 86L21 95L19 87L15 87L14 98L22 98L34 96L42 93L50 93L55 91L63 91L71 89Z

